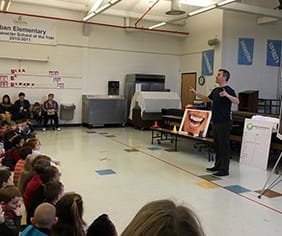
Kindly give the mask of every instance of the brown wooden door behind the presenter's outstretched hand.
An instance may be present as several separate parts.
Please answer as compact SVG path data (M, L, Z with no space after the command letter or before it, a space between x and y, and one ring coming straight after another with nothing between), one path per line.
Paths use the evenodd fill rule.
M195 96L189 92L190 88L196 89L197 73L183 73L181 76L181 103L182 108L187 104L193 104Z

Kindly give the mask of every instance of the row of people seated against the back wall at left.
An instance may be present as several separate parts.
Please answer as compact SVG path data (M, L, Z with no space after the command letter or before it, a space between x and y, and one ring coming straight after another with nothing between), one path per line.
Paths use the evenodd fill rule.
M10 123L11 120L17 122L19 120L33 119L38 126L41 127L43 125L43 131L46 130L50 120L53 129L60 131L58 118L59 105L54 100L54 94L48 94L48 99L43 105L35 102L33 106L25 99L23 92L20 92L18 96L19 98L14 104L12 104L9 95L5 94L3 96L2 103L0 104L0 120Z

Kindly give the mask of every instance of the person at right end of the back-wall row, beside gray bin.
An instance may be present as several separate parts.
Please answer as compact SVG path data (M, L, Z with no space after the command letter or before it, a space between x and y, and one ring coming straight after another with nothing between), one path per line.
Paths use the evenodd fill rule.
M48 99L43 103L43 111L44 111L44 128L43 131L46 130L48 121L51 120L51 122L54 122L54 126L58 131L60 131L59 128L59 118L58 118L58 103L54 100L54 94L50 93L48 94ZM53 127L53 129L55 129Z

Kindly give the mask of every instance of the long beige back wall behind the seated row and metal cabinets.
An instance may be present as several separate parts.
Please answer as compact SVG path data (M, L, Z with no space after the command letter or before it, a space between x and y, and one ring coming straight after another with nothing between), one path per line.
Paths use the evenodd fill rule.
M11 11L32 11L34 14L80 20L84 13L40 6L12 4ZM183 39L164 34L127 32L124 29L90 26L83 34L83 24L40 19L55 22L57 44L35 45L0 41L1 55L23 60L1 59L0 74L9 74L11 68L25 68L22 79L46 80L49 70L58 70L66 83L65 89L57 88L0 88L13 100L24 91L31 102L43 101L52 92L59 103L74 103L76 112L73 123L81 122L81 95L107 94L108 80L120 81L120 94L127 73L160 73L166 76L166 87L179 92L180 49ZM98 22L122 25L123 18L100 16ZM24 58L49 58L48 62L29 61ZM48 81L47 81L48 80ZM49 81L50 82L50 81ZM44 83L43 83L44 84Z

